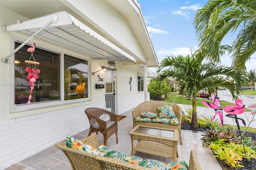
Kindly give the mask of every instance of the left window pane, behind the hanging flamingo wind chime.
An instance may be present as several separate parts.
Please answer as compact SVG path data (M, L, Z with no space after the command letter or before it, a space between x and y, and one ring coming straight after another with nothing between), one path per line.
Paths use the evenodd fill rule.
M21 43L15 42L15 48ZM27 52L28 45L24 45L15 53L14 62L14 94L15 105L28 102L30 84L25 60L29 60L31 53ZM31 103L60 100L60 54L36 48L33 53L36 61L40 63L38 79L34 83ZM33 60L32 60L33 61Z

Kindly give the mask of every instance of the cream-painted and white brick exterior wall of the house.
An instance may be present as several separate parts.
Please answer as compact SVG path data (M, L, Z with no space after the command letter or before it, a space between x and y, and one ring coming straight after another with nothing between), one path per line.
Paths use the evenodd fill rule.
M114 8L98 1L86 1L86 8L81 8L80 4L85 1L66 1L76 6L82 13L81 16L87 16L90 21L98 25L98 28L105 30L112 35L114 41L122 42L122 46L130 49L130 54L142 57L146 60L142 49L140 49L136 37L129 29L126 19L122 17ZM74 4L75 3L75 4ZM77 4L76 4L77 3ZM98 18L95 16L96 10L103 12L106 18ZM94 10L93 10L94 9ZM42 9L43 10L43 9ZM1 6L0 3L0 25L10 25L24 21L28 18ZM89 19L88 19L89 20ZM109 24L107 21L111 20ZM114 29L113 29L114 28ZM6 57L13 51L14 38L25 41L28 36L17 32L0 32L0 56L1 59ZM84 110L88 107L105 108L105 89L95 89L96 83L104 83L98 81L97 75L104 77L102 71L92 75L92 72L101 69L102 65L107 65L107 61L94 61L88 56L84 56L73 51L33 39L33 42L42 45L48 49L56 51L64 51L74 56L82 57L88 60L89 67L89 99L88 101L74 101L73 103L62 103L51 105L50 107L38 107L36 109L12 110L13 91L10 86L0 86L0 169L19 162L29 156L32 156L54 143L62 141L66 135L74 135L90 127ZM131 52L132 51L132 52ZM14 82L13 71L14 58L10 57L8 63L0 63L0 85L2 83ZM114 66L111 66L114 68ZM115 66L117 71L116 83L116 114L120 115L129 109L136 107L144 101L144 93L138 92L137 75L138 68L133 65L123 65L119 63ZM132 77L131 91L129 80Z

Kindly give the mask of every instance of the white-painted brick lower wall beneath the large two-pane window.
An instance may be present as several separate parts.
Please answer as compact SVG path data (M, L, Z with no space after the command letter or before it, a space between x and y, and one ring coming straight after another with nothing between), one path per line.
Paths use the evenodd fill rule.
M0 169L32 156L90 127L84 110L105 101L0 121Z

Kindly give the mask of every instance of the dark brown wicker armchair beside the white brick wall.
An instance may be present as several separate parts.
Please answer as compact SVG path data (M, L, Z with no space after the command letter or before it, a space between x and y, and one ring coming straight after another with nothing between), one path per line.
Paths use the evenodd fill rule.
M85 114L87 115L89 122L90 122L90 131L88 136L92 134L92 132L102 133L104 136L104 145L107 145L108 138L116 133L116 143L118 143L118 136L117 136L117 115L107 111L105 109L97 108L97 107L90 107L85 109ZM102 114L108 114L110 117L109 121L104 121L100 119Z

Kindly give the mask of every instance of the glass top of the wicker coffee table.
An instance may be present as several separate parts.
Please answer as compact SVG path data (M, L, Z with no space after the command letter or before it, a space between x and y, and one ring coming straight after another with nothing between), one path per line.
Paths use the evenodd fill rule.
M150 135L154 135L154 136L174 138L174 131L169 131L169 130L160 130L160 129L155 129L155 128L138 127L134 132L135 133L141 133L141 134L150 134Z

